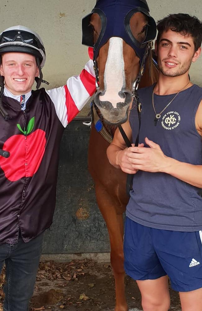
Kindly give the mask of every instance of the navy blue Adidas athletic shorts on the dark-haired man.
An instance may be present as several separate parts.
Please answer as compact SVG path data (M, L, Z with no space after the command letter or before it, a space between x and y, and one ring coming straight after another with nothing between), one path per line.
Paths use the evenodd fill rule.
M173 290L202 287L202 231L149 228L126 217L124 267L134 280L168 275Z

